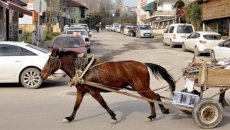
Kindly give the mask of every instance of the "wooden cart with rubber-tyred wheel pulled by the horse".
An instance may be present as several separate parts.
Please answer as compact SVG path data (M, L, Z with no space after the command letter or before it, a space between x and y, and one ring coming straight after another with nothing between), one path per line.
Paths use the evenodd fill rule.
M186 68L187 73L184 73L187 78L195 80L195 86L200 88L200 101L193 107L192 117L201 128L214 128L222 120L222 107L212 99L220 93L209 98L204 98L203 93L210 88L218 87L227 90L230 87L230 70L223 69L225 67L225 65L206 62L193 62Z

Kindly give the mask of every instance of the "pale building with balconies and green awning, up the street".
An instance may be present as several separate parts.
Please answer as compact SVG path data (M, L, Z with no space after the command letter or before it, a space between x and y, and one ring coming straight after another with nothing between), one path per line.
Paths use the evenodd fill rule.
M172 23L185 22L182 20L184 7L190 2L191 0L139 0L137 22L151 24L154 29L166 29Z

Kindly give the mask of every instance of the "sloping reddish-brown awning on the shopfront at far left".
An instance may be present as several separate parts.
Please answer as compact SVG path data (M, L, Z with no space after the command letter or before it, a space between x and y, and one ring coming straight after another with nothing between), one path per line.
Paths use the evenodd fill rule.
M14 10L16 12L19 12L19 13L22 13L22 14L32 16L32 12L27 10L26 8L23 8L22 6L14 4L14 3L10 2L10 1L8 1L7 3L8 3L8 6L9 6L9 9L12 9L12 10Z

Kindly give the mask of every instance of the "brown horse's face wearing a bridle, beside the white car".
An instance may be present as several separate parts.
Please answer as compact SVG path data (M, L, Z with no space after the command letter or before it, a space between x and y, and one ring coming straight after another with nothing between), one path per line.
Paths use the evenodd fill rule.
M59 59L59 50L53 49L40 75L42 79L47 79L48 76L61 68L61 60Z

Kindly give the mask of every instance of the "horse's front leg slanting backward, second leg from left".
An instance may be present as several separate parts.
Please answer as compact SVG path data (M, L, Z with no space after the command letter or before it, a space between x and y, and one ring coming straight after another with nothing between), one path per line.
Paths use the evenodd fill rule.
M103 97L101 96L101 94L98 91L91 90L90 95L94 99L96 99L101 104L101 106L109 113L109 115L111 116L111 119L112 119L111 123L112 124L117 123L116 114L108 107L108 105L106 104L106 102L103 99Z

